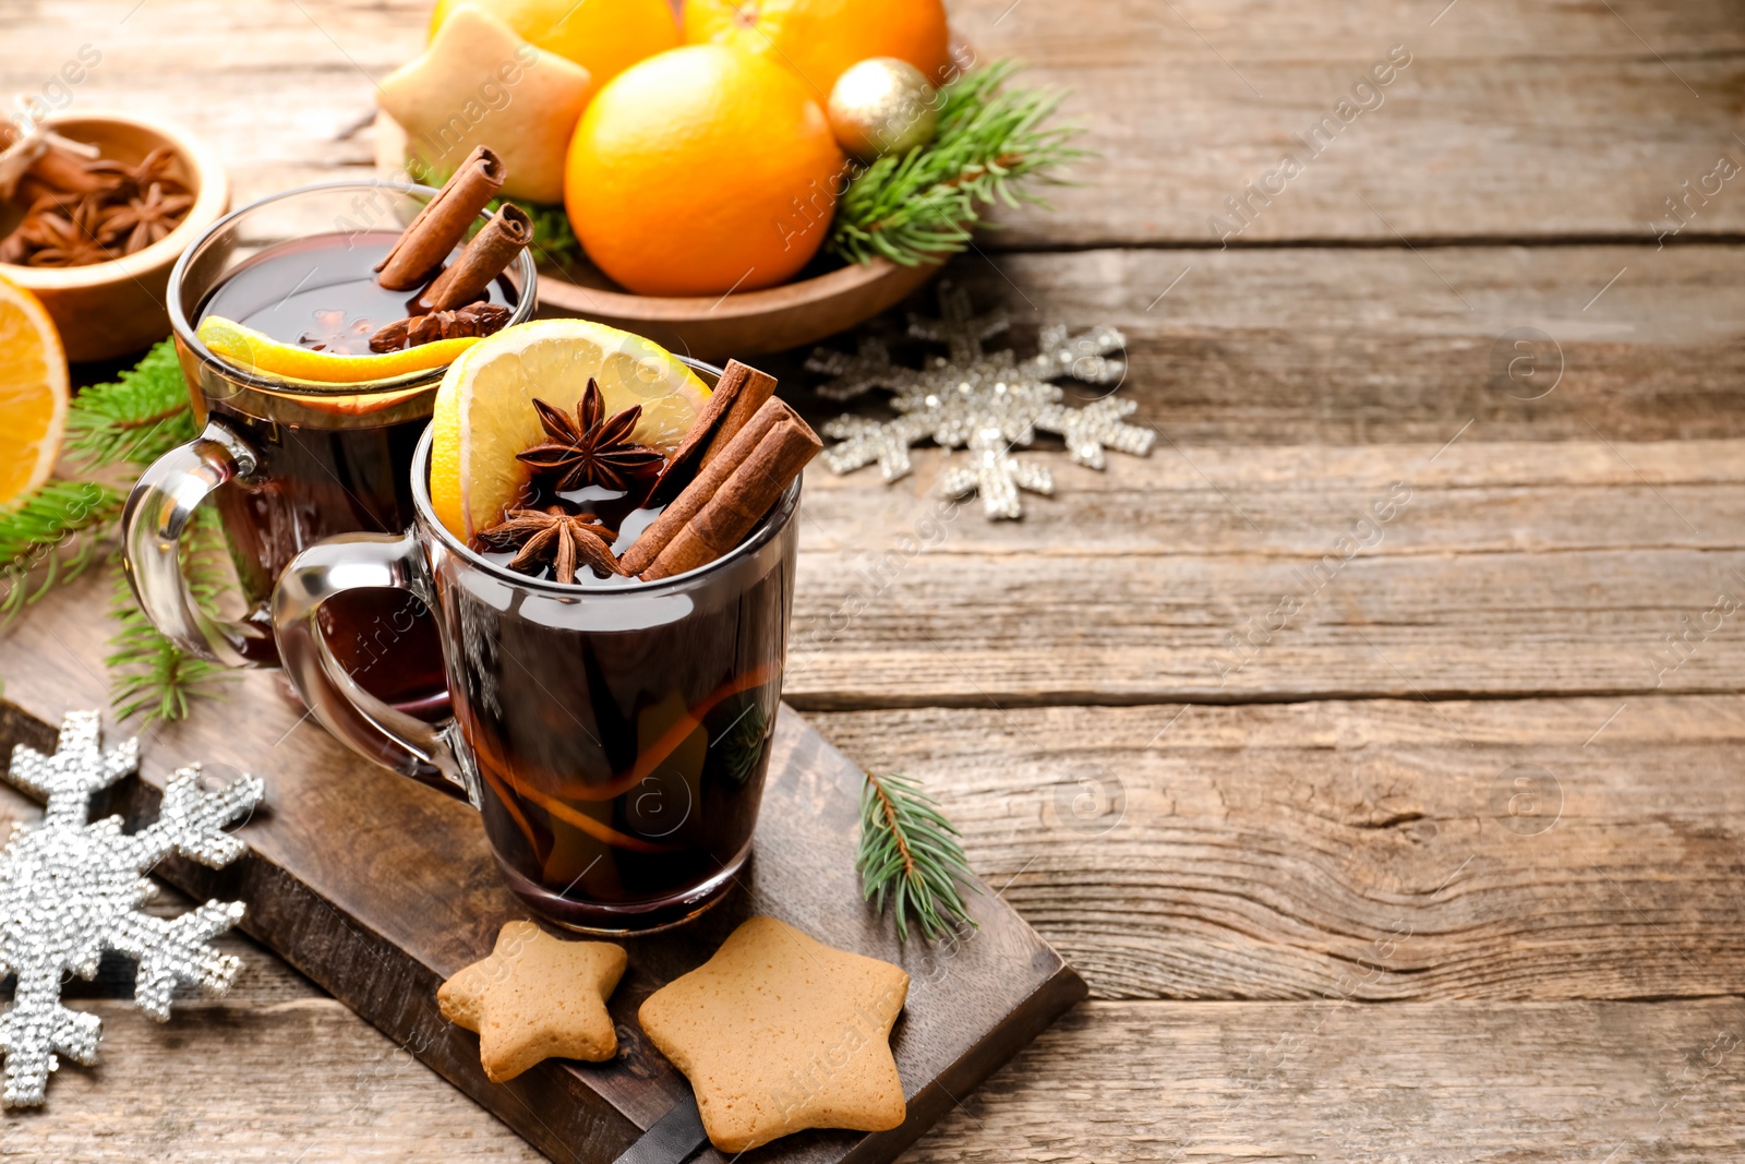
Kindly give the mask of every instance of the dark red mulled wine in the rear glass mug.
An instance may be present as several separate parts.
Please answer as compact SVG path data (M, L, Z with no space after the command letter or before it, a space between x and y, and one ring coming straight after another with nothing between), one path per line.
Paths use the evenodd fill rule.
M375 281L375 264L398 237L366 230L270 246L230 270L194 319L222 316L286 344L368 354L370 335L410 314L422 293ZM499 277L489 298L513 307L517 291ZM300 550L332 534L393 532L412 522L412 452L433 396L435 379L410 393L291 396L204 377L195 393L201 424L223 419L255 454L255 469L213 497L248 618L265 632L243 647L253 661L277 661L265 607ZM359 590L328 604L321 620L335 658L366 691L414 714L447 709L436 625L415 597Z

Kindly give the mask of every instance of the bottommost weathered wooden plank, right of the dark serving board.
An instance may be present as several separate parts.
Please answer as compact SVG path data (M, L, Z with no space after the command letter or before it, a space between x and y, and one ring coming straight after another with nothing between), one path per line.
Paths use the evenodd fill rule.
M913 1159L1666 1161L1745 1150L1736 998L1635 1003L1096 1003Z

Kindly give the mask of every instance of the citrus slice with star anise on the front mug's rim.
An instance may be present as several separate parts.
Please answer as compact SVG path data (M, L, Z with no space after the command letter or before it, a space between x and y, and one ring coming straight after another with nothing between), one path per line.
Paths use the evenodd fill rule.
M606 415L642 405L630 440L672 454L708 401L677 356L640 335L588 319L536 319L461 354L436 389L431 506L471 541L503 520L530 475L515 454L544 440L534 398L574 414L593 377Z

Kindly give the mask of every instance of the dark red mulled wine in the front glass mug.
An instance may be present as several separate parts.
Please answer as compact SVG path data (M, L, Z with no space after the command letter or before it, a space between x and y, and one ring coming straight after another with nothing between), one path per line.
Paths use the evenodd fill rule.
M564 499L621 522L619 546L635 539L630 520L656 513L595 492L609 490ZM731 887L782 695L796 494L743 553L667 585L590 571L581 590L518 585L433 555L485 831L510 885L548 918L660 928Z

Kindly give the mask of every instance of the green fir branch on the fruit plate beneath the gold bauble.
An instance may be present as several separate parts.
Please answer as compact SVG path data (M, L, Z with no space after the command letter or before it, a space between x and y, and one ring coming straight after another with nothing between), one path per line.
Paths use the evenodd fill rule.
M1047 206L1026 187L1064 185L1056 171L1091 154L1070 145L1077 126L1042 127L1064 92L1003 87L1017 68L995 61L941 89L934 140L878 159L848 183L827 250L848 262L883 255L913 267L967 248L993 202Z

